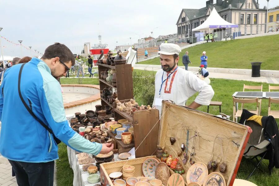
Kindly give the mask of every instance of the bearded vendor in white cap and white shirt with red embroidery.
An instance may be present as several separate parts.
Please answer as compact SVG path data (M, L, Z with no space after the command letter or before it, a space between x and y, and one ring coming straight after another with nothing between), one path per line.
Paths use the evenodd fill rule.
M173 43L162 43L160 48L158 53L162 69L155 76L153 108L157 108L161 115L162 100L172 100L175 104L185 106L189 97L196 92L199 94L187 107L209 105L214 95L212 87L192 72L178 67L180 47Z

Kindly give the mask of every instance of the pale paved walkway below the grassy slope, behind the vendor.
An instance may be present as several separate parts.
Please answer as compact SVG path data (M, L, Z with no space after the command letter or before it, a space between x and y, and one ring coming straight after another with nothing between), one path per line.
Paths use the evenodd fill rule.
M182 67L180 66L181 68ZM152 65L152 67L134 67L134 69L139 70L149 70L149 71L158 71L161 69L159 65ZM191 71L194 74L197 74L197 71ZM201 77L201 74L197 74ZM241 74L231 74L231 73L215 73L210 72L209 78L223 78L223 79L233 79L233 80L244 80L244 81L251 81L251 82L264 82L264 83L272 83L272 84L279 84L279 78L272 78L272 77L259 77L259 78L252 78L250 75L241 75Z

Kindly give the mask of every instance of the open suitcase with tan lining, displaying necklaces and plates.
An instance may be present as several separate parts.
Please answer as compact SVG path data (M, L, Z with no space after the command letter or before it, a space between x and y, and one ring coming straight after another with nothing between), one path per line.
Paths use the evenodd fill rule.
M144 123L139 123L139 126L140 125L144 127ZM184 165L182 160L184 159L183 153L186 153L185 150L180 156L177 154L179 151L182 151L181 144L187 144L188 131L187 154L189 158ZM190 154L193 153L192 147L194 146L195 155L194 157L192 156L194 162L203 162L207 165L210 159L212 159L213 153L213 160L215 161L217 157L216 160L219 162L214 172L219 172L219 165L222 162L226 163L226 171L221 174L224 176L226 185L232 186L251 132L252 130L249 126L243 126L208 113L163 101L158 146L165 149L173 157L179 159L180 164L185 170L185 173L182 174L185 185L188 185L186 182L186 175L191 166L189 159ZM173 145L170 143L170 137L176 139ZM194 139L196 141L195 143ZM212 150L213 146L214 151ZM154 156L156 152L150 154L150 156L152 155L156 157ZM112 172L122 171L122 166L124 165L135 166L135 177L143 176L141 167L146 158L147 157L140 157L131 160L101 164L100 174L102 185L113 186L108 175ZM169 171L170 175L174 174L172 169L169 168ZM208 174L211 172L213 171L209 170Z

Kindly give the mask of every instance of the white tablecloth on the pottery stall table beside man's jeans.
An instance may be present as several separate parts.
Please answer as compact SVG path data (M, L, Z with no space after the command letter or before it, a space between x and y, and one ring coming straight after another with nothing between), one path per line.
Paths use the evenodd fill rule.
M94 186L95 184L101 184L101 182L91 184L87 181L87 177L89 176L87 171L82 170L82 165L78 163L78 155L75 154L75 150L67 147L68 159L70 167L73 169L73 186ZM89 156L92 157L91 154ZM118 154L114 154L114 161L120 161L118 158ZM93 163L95 165L95 162ZM97 172L100 175L100 171Z

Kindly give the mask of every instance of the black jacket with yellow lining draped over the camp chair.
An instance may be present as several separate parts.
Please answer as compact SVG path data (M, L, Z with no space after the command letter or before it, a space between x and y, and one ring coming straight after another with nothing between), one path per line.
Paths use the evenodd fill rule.
M248 110L243 109L239 123L244 124L245 120L254 115ZM263 136L270 142L267 147L267 156L264 159L269 160L268 169L271 171L274 166L277 169L279 168L279 130L273 116L263 116L261 121L263 125Z

